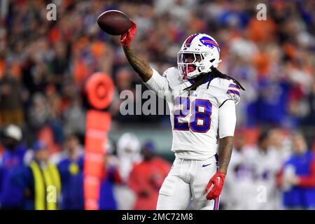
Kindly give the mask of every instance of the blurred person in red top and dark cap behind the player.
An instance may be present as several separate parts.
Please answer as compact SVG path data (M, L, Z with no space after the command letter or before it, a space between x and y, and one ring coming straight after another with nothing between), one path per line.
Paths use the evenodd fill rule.
M144 160L134 165L130 173L129 186L137 194L135 210L155 210L159 190L169 173L169 162L159 158L151 141L141 150Z

